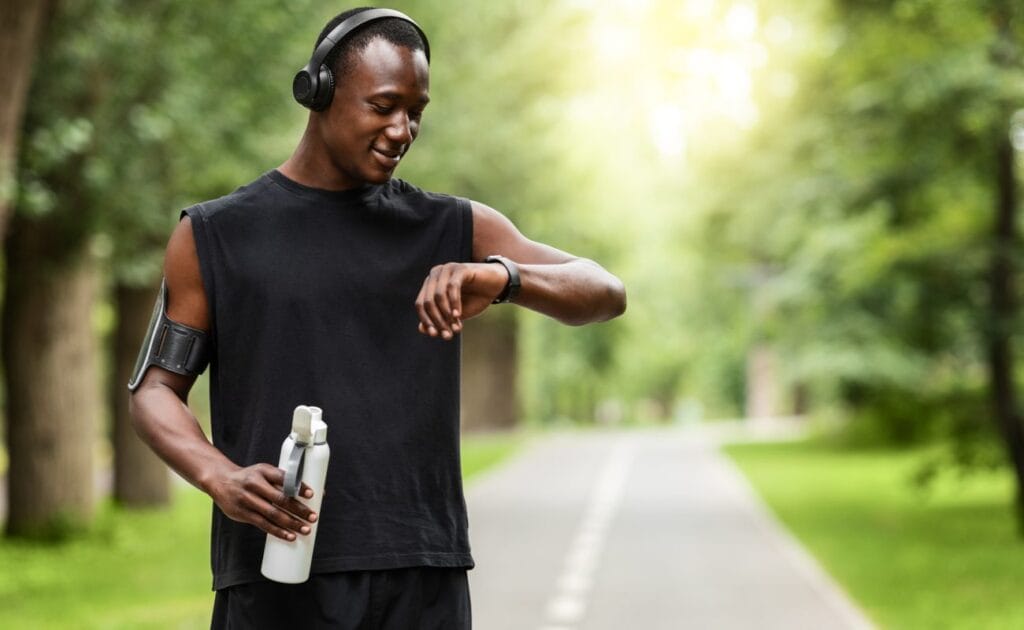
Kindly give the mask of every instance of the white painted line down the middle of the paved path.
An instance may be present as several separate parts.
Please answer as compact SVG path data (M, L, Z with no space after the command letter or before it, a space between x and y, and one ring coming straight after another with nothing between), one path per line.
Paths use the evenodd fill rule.
M556 583L555 594L548 601L548 624L541 630L572 630L586 615L587 596L594 584L594 573L604 548L604 539L622 502L632 463L632 445L620 445L608 456L565 555L565 564Z

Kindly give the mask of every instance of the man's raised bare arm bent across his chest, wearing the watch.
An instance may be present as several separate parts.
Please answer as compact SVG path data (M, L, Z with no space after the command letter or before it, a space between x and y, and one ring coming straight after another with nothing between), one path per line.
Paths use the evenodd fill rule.
M573 326L610 320L626 310L622 281L601 265L530 241L497 210L471 205L474 262L431 269L416 300L420 332L452 339L463 320L490 305L509 279L504 265L481 262L495 254L518 265L521 288L515 302L526 308Z

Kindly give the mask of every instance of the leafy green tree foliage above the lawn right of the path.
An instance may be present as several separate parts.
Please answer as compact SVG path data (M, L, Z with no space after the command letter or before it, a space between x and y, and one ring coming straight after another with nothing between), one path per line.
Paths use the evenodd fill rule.
M1024 73L995 59L984 3L808 6L800 26L822 36L793 60L800 88L701 161L688 242L698 291L732 313L702 321L743 331L736 352L771 343L783 385L850 409L856 439L987 431L995 157Z

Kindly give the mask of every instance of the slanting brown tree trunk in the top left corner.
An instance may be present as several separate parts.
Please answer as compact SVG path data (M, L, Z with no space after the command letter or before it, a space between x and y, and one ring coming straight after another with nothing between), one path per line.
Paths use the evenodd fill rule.
M29 94L32 64L43 25L55 4L46 0L0 3L0 242L10 216L9 191Z

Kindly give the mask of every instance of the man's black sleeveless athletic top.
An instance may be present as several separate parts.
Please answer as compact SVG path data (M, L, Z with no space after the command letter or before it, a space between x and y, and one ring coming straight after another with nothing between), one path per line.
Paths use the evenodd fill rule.
M214 445L278 463L297 405L331 462L314 573L471 568L459 464L460 344L417 331L433 265L468 261L464 199L401 180L331 192L270 171L182 214L210 307ZM214 506L215 589L261 580L265 535Z

